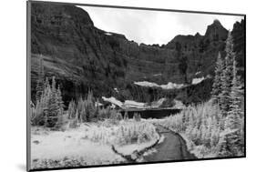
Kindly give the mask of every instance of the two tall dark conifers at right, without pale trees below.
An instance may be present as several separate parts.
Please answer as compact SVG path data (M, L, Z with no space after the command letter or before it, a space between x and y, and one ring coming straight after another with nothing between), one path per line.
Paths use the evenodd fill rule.
M233 51L233 39L229 33L226 41L226 56L222 59L220 53L217 58L215 77L212 85L212 101L220 106L221 114L228 114L241 104L241 82L237 76L236 55ZM237 106L233 106L236 104Z

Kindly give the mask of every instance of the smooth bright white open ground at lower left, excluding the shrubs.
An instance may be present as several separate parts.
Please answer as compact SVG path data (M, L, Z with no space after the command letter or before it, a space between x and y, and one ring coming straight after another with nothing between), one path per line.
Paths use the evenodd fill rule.
M42 129L39 129L42 130ZM111 164L125 161L115 154L111 147L94 143L85 138L86 127L62 131L37 131L31 135L31 159L58 160L67 158L83 158L87 165Z

